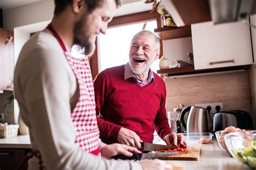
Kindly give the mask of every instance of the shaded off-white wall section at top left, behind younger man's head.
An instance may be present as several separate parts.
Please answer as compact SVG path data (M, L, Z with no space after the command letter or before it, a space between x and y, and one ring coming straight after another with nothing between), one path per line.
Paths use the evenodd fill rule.
M53 0L44 0L42 2L3 10L3 27L12 31L18 26L50 20L53 16L53 10Z

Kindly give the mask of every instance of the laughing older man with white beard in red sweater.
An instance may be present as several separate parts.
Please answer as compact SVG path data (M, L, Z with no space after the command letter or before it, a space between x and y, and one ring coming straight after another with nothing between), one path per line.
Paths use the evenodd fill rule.
M167 145L186 144L166 118L165 82L150 66L160 54L159 38L140 31L131 41L129 63L105 69L95 79L100 139L137 148L152 143L154 130Z

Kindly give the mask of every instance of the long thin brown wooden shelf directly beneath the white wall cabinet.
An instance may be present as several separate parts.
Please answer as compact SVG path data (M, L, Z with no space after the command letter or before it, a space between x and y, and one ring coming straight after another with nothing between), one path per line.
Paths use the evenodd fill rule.
M187 74L200 74L200 73L212 73L212 72L225 72L230 70L248 69L251 65L211 68L211 69L199 69L195 70L194 66L167 68L157 70L158 74L167 73L168 76L187 75Z

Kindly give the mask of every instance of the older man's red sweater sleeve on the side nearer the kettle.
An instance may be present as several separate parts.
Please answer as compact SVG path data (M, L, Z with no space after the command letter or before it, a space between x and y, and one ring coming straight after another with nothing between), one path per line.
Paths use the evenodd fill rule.
M161 81L161 80L157 80L157 81ZM164 139L164 137L167 134L171 133L171 129L167 120L167 116L166 116L166 110L165 110L165 102L166 102L166 87L165 87L165 83L160 82L161 83L161 87L159 87L159 89L161 89L161 102L160 102L160 106L159 109L157 111L157 115L156 118L154 119L154 126L156 127L156 131L158 136L161 139Z

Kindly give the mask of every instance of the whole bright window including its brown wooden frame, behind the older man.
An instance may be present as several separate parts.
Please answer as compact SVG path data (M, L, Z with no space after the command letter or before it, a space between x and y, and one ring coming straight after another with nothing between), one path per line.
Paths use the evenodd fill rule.
M161 26L161 17L157 12L150 13L150 11L145 11L113 18L109 23L107 33L105 35L100 34L97 38L97 49L90 59L93 79L102 70L109 67L123 65L129 61L129 47L131 39L134 34L142 30L145 22L147 22L146 30L153 32L153 29ZM136 29L130 30L132 27L136 27ZM113 34L114 37L119 39L115 40L113 38ZM120 42L122 42L122 44ZM160 44L162 44L161 40ZM119 50L119 48L123 49ZM163 55L163 48L161 47L160 50L161 56ZM154 66L153 64L151 66L154 72L158 69L157 62L159 61L154 61Z

